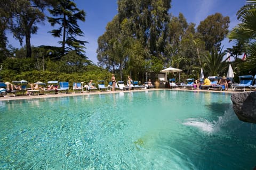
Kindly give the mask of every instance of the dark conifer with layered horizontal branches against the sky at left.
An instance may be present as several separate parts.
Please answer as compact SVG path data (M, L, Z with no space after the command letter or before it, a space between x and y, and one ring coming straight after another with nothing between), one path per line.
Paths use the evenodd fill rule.
M76 4L70 0L59 0L58 5L54 6L52 10L49 9L49 12L55 17L47 17L51 25L60 25L58 29L50 32L53 37L62 36L62 41L59 42L62 45L62 53L65 54L69 50L76 50L80 54L84 53L83 48L85 48L87 41L76 38L77 36L84 36L77 24L77 20L85 21L86 13L84 10L79 10Z

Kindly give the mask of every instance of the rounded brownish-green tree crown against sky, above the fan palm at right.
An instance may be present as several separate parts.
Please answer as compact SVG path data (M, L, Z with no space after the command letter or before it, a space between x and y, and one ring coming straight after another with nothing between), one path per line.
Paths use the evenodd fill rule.
M220 13L209 15L204 21L201 21L197 31L202 34L205 41L205 49L219 49L221 41L227 36L229 27L229 16L223 17Z

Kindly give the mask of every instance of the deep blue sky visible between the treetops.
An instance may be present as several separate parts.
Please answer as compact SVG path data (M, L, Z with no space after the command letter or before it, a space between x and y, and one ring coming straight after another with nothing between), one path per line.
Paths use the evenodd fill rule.
M96 50L98 48L98 37L105 32L108 22L110 22L117 14L116 0L75 0L77 7L86 12L85 22L79 22L79 26L84 32L84 37L79 39L88 41L86 44L86 56L95 64L98 62ZM237 25L236 12L245 5L246 0L172 0L171 10L174 16L183 13L187 22L193 22L197 25L203 21L208 15L221 13L223 16L229 16L229 30ZM53 28L47 21L38 25L39 29L36 35L31 36L31 45L51 45L60 46L60 39L53 38L50 33ZM9 34L9 44L20 48L18 40L12 38ZM223 49L232 47L232 42L228 43L228 39L222 41Z

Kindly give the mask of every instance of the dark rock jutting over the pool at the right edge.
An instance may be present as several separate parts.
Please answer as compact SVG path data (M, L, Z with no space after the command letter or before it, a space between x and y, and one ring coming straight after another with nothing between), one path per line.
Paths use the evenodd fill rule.
M231 100L239 120L256 123L256 91L232 94Z

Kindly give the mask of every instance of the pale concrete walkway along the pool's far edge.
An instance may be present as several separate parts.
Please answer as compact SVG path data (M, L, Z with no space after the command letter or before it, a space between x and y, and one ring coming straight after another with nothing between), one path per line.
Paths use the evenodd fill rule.
M113 93L119 93L119 92L135 92L135 91L153 91L153 90L173 90L173 91L196 91L196 92L220 92L220 93L238 93L238 92L243 92L241 91L233 91L233 90L229 90L229 91L225 91L225 90L189 90L189 89L141 89L141 90L117 90L115 92L113 91L97 91L97 92L83 92L83 93L74 93L74 92L69 92L68 94L51 94L51 95L33 95L33 96L29 96L29 95L17 95L17 96L12 96L12 94L10 94L10 96L6 96L6 97L0 97L0 101L8 101L8 100L21 100L21 99L37 99L37 98L51 98L51 97L67 97L67 96L82 96L82 95L99 95L99 94L113 94Z

